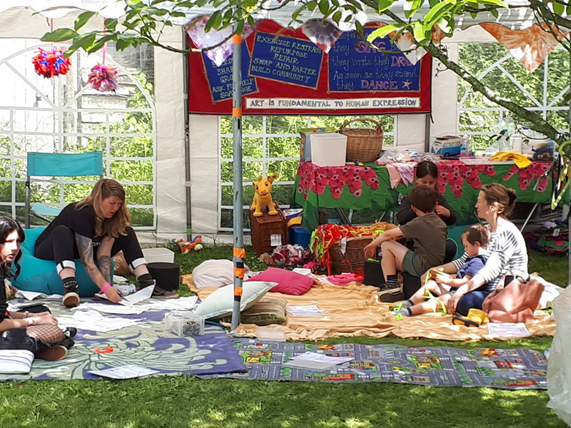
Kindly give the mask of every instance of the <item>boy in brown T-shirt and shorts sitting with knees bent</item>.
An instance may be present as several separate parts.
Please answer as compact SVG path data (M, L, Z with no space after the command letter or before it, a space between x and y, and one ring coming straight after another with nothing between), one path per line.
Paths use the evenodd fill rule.
M398 285L397 270L420 277L430 267L438 266L444 260L448 230L434 212L436 191L426 186L416 186L410 190L408 198L418 217L399 228L381 233L365 247L365 257L372 258L380 245L380 265L386 282L380 289L383 293L380 295L381 302L404 300L405 296ZM414 251L393 240L400 236L413 240Z

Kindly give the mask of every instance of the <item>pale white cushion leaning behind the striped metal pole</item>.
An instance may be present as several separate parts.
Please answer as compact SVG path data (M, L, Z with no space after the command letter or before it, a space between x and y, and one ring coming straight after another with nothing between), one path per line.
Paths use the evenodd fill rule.
M260 300L268 290L275 287L277 282L266 281L248 281L243 282L242 300L240 302L240 310L246 310L254 303ZM194 310L196 315L203 318L222 318L231 315L234 307L234 286L225 285L218 288L211 295L201 302Z

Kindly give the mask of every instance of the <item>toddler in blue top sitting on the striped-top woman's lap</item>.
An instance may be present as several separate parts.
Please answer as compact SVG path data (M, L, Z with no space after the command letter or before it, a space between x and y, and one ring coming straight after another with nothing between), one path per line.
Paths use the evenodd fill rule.
M410 317L411 315L445 310L446 305L448 305L448 299L450 299L450 296L454 294L458 287L468 282L484 267L487 260L485 248L489 242L490 230L482 225L473 225L464 230L462 244L469 258L463 267L458 270L456 277L453 278L444 272L431 269L430 273L433 274L433 279L428 281L423 287L420 287L420 290L415 292L413 297L405 300L398 310L393 310L390 313L392 315ZM482 288L487 287L487 284L482 286ZM440 297L437 299L435 296Z

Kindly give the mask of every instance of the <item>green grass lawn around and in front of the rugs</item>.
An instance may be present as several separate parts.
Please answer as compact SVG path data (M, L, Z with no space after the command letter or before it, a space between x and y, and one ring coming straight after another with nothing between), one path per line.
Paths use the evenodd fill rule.
M248 248L247 263L263 269ZM176 255L181 273L203 260L231 258L230 246ZM530 272L567 284L567 259L530 252ZM181 294L190 294L181 290ZM529 347L550 337L510 342L444 342L340 337L328 343L408 346ZM129 363L129 362L126 362ZM131 362L133 363L133 362ZM136 362L134 362L136 363ZM565 427L547 409L545 391L421 387L387 383L325 384L200 380L191 376L127 381L0 384L0 427Z

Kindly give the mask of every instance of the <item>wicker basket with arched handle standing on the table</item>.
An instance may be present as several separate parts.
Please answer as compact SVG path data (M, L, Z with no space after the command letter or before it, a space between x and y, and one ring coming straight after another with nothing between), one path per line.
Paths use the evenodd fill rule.
M370 128L347 128L350 123L357 121L370 121L375 123L376 129ZM375 162L383 148L383 126L373 119L358 118L343 123L339 133L347 136L347 161L350 162Z

